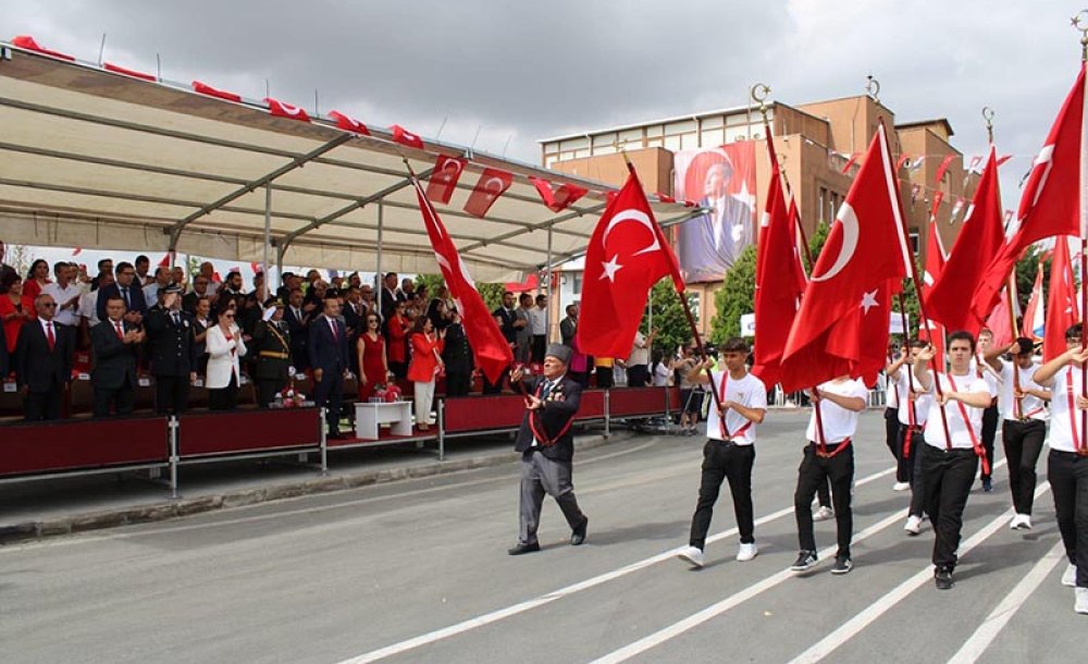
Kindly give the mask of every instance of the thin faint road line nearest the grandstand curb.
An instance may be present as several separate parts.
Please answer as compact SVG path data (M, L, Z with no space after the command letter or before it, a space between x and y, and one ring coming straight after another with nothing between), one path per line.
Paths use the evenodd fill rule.
M593 463L597 463L597 462L603 462L603 460L616 458L618 456L623 456L623 455L632 454L634 452L639 452L639 451L645 450L646 447L650 447L650 446L656 445L656 444L657 444L657 441L652 441L652 442L648 442L648 443L644 443L642 445L638 445L638 446L630 447L630 448L627 448L627 450L621 450L619 452L613 452L610 454L605 454L605 455L601 455L601 456L594 456L592 458L588 458L588 459L584 459L582 462L579 462L579 467L585 466L586 464L593 464ZM480 468L472 468L472 469L469 469L469 470L480 470ZM463 471L458 471L458 472L463 472ZM449 477L449 476L431 476L431 478L434 478L434 477ZM431 478L412 478L409 481L422 481L422 480L431 479ZM20 550L26 550L26 549L33 549L33 548L39 548L39 546L65 546L65 545L73 545L73 544L88 544L88 543L92 543L92 542L106 542L106 541L111 541L111 540L132 540L132 539L137 539L137 538L143 538L143 537L150 537L150 536L154 536L154 534L172 534L172 533L175 533L175 532L187 532L187 531L190 531L190 530L200 530L200 529L205 529L205 528L218 528L220 526L237 526L237 525L240 525L240 524L255 524L255 522L259 522L259 521L267 521L267 520L273 520L273 519L282 519L284 517L290 517L290 516L300 516L300 515L306 515L306 514L317 514L319 512L329 512L329 511L332 511L332 509L341 509L341 508L344 508L344 507L354 507L356 505L362 505L362 504L369 504L369 503L381 503L381 502L386 502L386 501L392 501L392 500L404 500L406 495L412 495L412 496L416 496L416 495L426 495L426 494L436 493L436 492L440 492L440 491L448 491L450 489L466 489L468 487L477 487L477 485L480 485L480 484L487 484L487 483L494 483L494 482L508 482L508 481L510 481L509 477L493 477L493 478L486 478L486 479L480 479L480 480L469 480L469 481L466 481L466 482L457 482L457 483L450 483L450 484L443 484L441 487L429 487L426 489L415 489L415 490L410 490L410 491L403 492L403 493L393 493L393 494L388 494L388 495L370 495L370 496L366 496L366 497L356 499L356 500L353 500L353 501L344 501L344 502L335 503L335 504L332 504L332 505L316 505L313 507L299 507L299 508L296 508L296 509L287 509L287 511L283 511L283 512L275 512L275 513L272 513L272 514L258 514L258 515L254 515L254 516L243 516L243 517L238 517L238 518L234 518L234 519L223 519L223 520L219 520L219 521L209 521L207 524L184 524L184 525L177 525L177 526L168 526L168 527L164 527L164 528L156 528L156 529L143 530L140 532L118 532L118 533L114 533L114 534L92 534L92 536L81 536L79 533L73 533L70 538L66 538L66 539L32 540L32 541L26 541L26 542L16 542L14 544L7 544L7 545L3 545L3 546L0 546L0 555L3 555L3 553L5 551L20 551ZM378 485L378 484L369 484L367 487L359 487L359 488L355 488L355 489L345 489L344 491L360 491L360 490L371 489L371 488L373 488L375 485ZM388 485L388 484L383 484L383 485ZM283 499L283 501L299 501L299 500L305 500L305 499L314 499L314 497L319 497L319 496L331 496L333 494L334 494L334 492L329 492L329 493L310 493L310 494L307 494L307 495L299 495L299 496L293 496L293 497L289 497L289 499ZM276 502L280 502L280 501L276 501ZM234 511L252 509L255 507L267 507L267 506L270 506L270 505L272 505L272 503L268 503L268 502L265 502L265 503L255 503L255 504L251 504L251 505L239 505L237 507L225 507L225 508L222 508L222 509L218 509L215 512L206 512L206 513L197 514L197 515L193 515L193 516L194 517L198 517L198 516L207 516L207 515L210 515L210 514L224 514L224 513L234 512ZM185 517L181 517L181 518L185 518ZM136 525L134 524L134 526L136 526Z

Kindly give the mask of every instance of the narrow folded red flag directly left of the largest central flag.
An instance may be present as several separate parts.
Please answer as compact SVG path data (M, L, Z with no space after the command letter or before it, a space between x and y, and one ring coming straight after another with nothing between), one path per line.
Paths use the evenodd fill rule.
M805 274L794 242L796 207L787 209L774 139L767 134L770 182L759 223L755 254L755 364L752 372L765 385L778 383L782 352L798 305L805 292Z

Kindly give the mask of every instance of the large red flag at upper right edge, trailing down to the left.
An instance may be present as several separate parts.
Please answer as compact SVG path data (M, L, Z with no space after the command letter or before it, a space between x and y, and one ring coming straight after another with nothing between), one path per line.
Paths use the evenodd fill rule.
M1062 104L1062 110L1050 128L1047 142L1039 150L1021 195L1016 212L1017 229L1001 253L987 268L986 279L972 298L976 316L985 316L993 308L998 293L1029 245L1054 235L1086 237L1080 218L1080 134L1085 121L1085 65L1081 63L1077 81ZM1088 183L1086 183L1088 184Z

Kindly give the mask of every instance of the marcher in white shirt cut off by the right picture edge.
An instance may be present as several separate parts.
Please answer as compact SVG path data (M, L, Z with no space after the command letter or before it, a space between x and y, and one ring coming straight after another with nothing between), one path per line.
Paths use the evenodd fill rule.
M1088 439L1081 420L1088 398L1081 395L1088 351L1081 327L1065 331L1068 349L1039 367L1033 380L1051 391L1050 456L1047 479L1054 494L1054 517L1070 565L1062 585L1073 587L1073 610L1088 614Z

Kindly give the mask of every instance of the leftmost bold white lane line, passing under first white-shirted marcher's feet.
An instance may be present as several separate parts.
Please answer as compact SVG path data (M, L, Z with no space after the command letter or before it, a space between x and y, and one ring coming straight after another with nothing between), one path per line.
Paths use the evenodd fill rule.
M857 480L857 482L855 482L854 485L855 487L862 487L862 485L868 484L869 482L875 482L875 481L877 481L877 480L879 480L881 478L888 477L889 475L892 475L893 472L895 472L895 468L888 468L886 470L881 470L879 472L876 472L874 475L865 477L865 478L863 478L861 480ZM768 524L768 522L774 521L776 519L780 519L783 516L788 516L788 515L792 515L792 514L793 514L793 506L791 505L789 507L786 507L783 509L779 509L778 512L774 512L771 514L768 514L766 516L763 516L763 517L756 519L755 520L755 525L756 526L761 526L761 525L764 525L764 524ZM899 514L899 511L897 511L895 516L892 517L891 520L900 520L901 518L902 518L902 516ZM707 538L706 543L707 544L712 544L714 542L721 541L721 540L724 540L726 538L729 538L729 537L738 534L738 532L739 532L739 530L737 528L730 528L729 530L725 530L722 532L719 532L719 533L716 533L714 536L710 536L709 538ZM393 643L391 645L386 645L384 648L381 648L381 649L378 649L378 650L373 650L373 651L370 651L368 653L363 653L363 654L355 656L355 657L349 657L349 659L344 660L343 662L341 662L341 664L366 664L368 662L376 662L379 660L384 660L385 657L391 657L393 655L397 655L397 654L407 652L409 650L415 650L416 648L420 648L422 645L428 645L430 643L434 643L434 642L441 641L443 639L448 639L449 637L454 637L454 636L457 636L457 635L460 635L460 634L465 634L467 631L471 631L472 629L477 629L477 628L483 627L485 625L491 625L493 623L497 623L497 622L503 620L505 618L508 618L508 617L511 617L511 616L516 616L516 615L521 614L521 613L526 613L527 611L531 611L533 608L537 608L537 607L543 606L545 604L549 604L552 602L555 602L556 600L560 600L562 598L566 598L566 597L569 597L571 594L574 594L576 592L580 592L582 590L588 590L590 588L594 588L596 586L601 586L603 583L607 583L608 581L613 581L615 579L625 577L625 576L627 576L629 574L632 574L634 571L638 571L640 569L645 569L646 567L650 567L652 565L656 565L657 563L660 563L663 561L671 561L672 558L676 557L676 555L680 552L681 549L683 549L683 548L682 546L677 546L676 549L670 549L669 551L665 551L665 552L659 553L657 555L653 555L651 557L643 558L641 561L631 563L630 565L626 565L623 567L619 567L619 568L614 569L611 571L607 571L605 574L597 575L595 577L585 579L583 581L579 581L577 583L572 583L572 585L567 586L565 588L560 588L558 590L554 590L554 591L552 591L552 592L549 592L547 594L542 594L542 595L539 595L539 597L533 598L531 600L527 600L527 601L520 602L518 604L512 604L512 605L507 606L505 608L499 608L497 611L493 611L491 613L486 613L486 614L483 614L483 615L480 615L480 616L477 616L477 617L473 617L473 618L469 618L467 620L462 620L460 623L457 623L455 625L450 625L448 627L444 627L442 629L436 629L434 631L429 631L426 634L420 635L420 636L411 638L411 639L407 639L405 641L399 641L397 643Z

